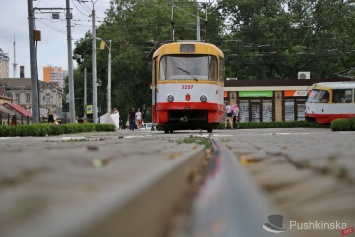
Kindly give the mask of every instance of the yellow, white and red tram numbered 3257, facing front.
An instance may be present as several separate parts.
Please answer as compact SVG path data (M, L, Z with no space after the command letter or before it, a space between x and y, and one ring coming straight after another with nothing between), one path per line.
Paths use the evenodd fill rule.
M165 133L211 133L224 113L223 52L200 41L167 43L154 52L152 67L152 121Z

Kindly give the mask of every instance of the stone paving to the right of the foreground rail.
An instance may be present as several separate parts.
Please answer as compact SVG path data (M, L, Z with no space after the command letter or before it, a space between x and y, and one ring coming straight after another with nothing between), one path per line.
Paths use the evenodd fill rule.
M302 228L295 230L298 236L341 236L339 229L319 229L327 227L324 223L355 228L355 132L294 128L229 133L233 136L223 138L224 143L281 211L270 215L282 214L285 223L296 221L298 226L288 228Z

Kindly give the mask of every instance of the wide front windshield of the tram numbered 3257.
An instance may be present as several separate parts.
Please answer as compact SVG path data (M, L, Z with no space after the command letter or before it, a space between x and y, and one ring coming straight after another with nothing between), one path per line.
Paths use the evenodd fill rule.
M167 55L160 60L159 80L218 80L218 62L212 55Z

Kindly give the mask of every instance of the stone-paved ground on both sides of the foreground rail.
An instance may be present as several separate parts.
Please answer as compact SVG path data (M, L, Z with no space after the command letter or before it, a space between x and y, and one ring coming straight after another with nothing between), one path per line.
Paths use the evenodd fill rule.
M323 230L324 223L355 227L355 132L239 129L210 135L198 130L119 130L0 138L0 233L38 213L55 212L126 185L132 177L193 150L192 144L180 144L190 136L225 144L275 207L277 213L270 215L283 215L284 225L298 236L341 236L344 225ZM305 228L315 222L318 225Z

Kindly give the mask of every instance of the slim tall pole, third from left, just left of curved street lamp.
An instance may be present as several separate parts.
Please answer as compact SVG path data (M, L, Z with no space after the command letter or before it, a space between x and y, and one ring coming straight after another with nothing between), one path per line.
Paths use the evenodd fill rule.
M97 72L96 72L96 26L95 4L92 4L92 115L93 123L97 123Z

